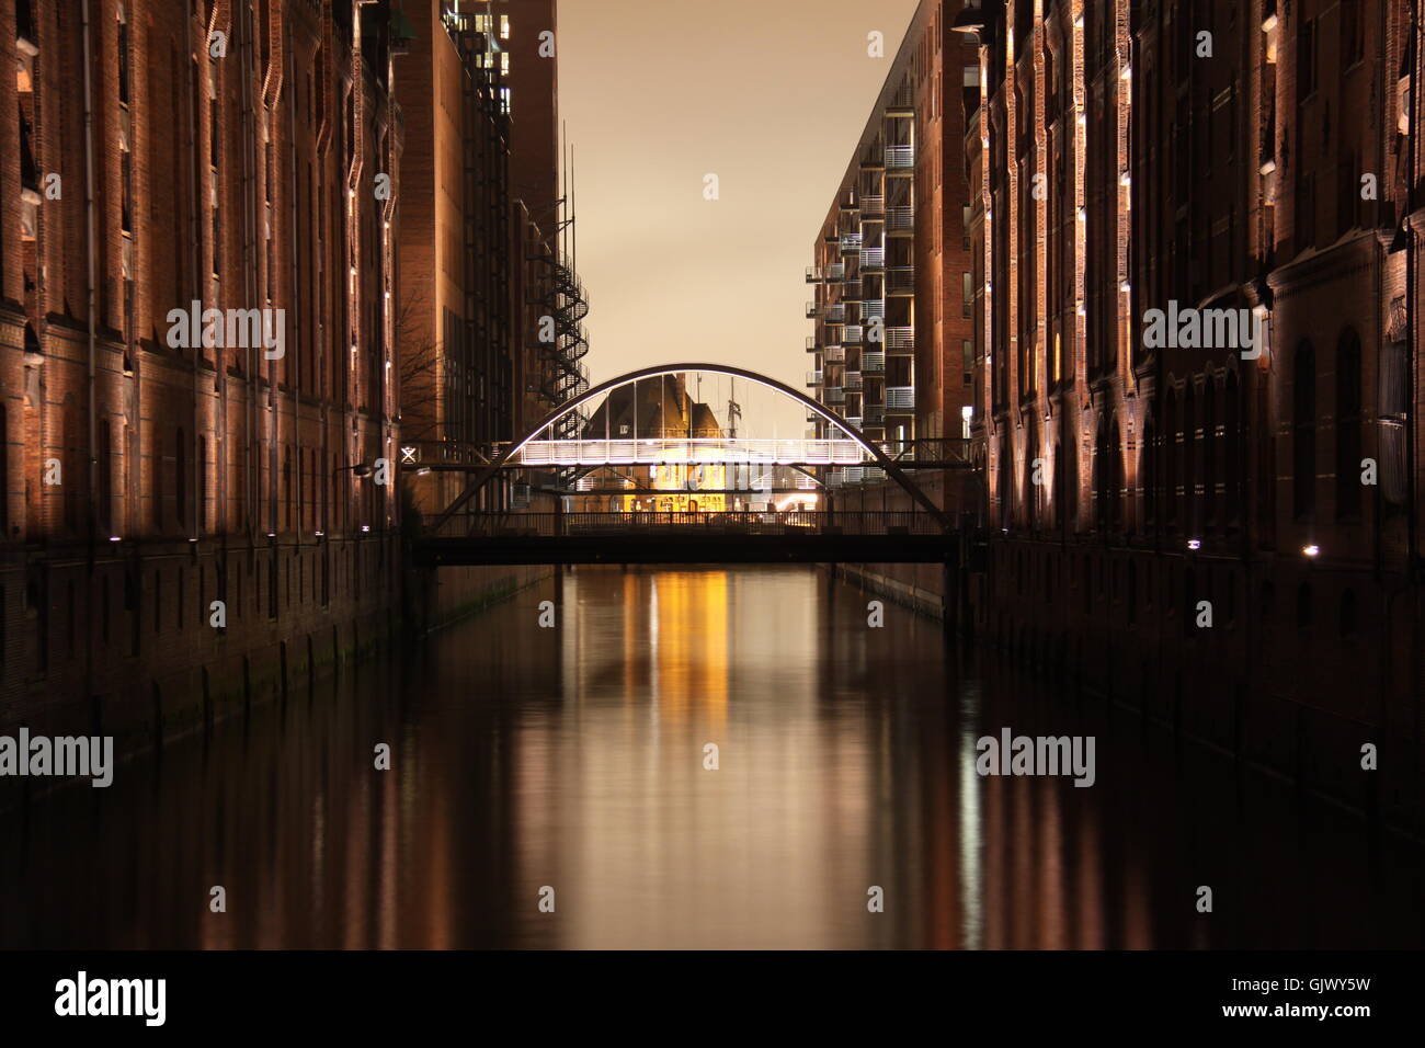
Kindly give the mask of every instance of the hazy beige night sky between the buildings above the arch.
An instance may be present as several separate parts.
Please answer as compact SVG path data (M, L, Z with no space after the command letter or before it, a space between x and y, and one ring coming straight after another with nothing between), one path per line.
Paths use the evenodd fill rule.
M805 271L915 7L559 0L593 382L708 361L805 391ZM874 30L884 58L868 56ZM782 436L805 429L794 405L755 411L775 411Z

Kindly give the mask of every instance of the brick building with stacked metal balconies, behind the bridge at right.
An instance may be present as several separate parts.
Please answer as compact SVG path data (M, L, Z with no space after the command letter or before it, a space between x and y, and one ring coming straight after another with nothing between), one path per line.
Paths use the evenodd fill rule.
M874 441L960 438L973 369L965 288L956 0L923 0L891 63L807 271L817 399ZM821 423L824 428L825 423Z

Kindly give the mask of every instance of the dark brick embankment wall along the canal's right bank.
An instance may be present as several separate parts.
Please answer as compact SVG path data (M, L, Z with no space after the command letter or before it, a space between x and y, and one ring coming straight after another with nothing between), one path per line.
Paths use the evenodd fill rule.
M899 490L839 492L899 509ZM1418 587L1369 566L989 539L938 565L835 565L1000 657L1425 836ZM1374 767L1365 767L1374 764Z

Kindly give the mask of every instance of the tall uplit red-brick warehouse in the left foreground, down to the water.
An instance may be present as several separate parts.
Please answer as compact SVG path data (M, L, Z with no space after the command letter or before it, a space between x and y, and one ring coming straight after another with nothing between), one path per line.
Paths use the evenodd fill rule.
M157 734L390 627L419 40L386 0L0 0L4 723Z

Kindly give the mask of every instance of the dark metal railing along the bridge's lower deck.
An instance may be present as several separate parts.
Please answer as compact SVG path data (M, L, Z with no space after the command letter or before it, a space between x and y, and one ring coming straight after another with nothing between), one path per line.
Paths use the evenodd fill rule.
M795 540L799 535L939 535L943 529L931 515L913 510L477 512L455 516L439 532L425 530L423 538L563 538L681 530L784 535Z

